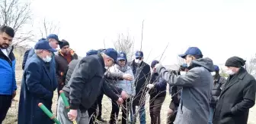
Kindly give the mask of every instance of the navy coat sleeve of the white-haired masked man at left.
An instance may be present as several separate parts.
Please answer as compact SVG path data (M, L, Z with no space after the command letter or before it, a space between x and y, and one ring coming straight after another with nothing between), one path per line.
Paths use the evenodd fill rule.
M38 64L30 63L25 71L27 90L39 98L51 99L53 92L40 84L41 72Z

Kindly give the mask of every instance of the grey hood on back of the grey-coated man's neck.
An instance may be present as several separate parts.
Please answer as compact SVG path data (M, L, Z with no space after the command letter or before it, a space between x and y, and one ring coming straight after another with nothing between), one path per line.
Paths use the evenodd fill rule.
M214 71L214 66L213 66L213 60L211 60L209 57L205 57L205 58L200 58L197 60L192 60L191 62L192 66L200 66L200 67L204 67L207 70L209 70L210 72Z

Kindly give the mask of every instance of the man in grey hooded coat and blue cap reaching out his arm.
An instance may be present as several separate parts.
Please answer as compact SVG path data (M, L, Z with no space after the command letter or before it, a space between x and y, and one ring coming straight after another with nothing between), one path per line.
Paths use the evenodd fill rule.
M190 47L180 57L186 60L187 74L176 76L168 72L161 64L155 70L170 85L182 86L181 101L174 124L206 124L209 119L210 91L213 87L213 60L202 58L197 47Z

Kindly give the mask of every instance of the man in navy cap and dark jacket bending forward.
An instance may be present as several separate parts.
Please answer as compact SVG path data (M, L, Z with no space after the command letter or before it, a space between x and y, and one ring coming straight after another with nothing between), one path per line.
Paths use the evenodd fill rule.
M58 101L58 119L61 123L80 123L81 110L87 111L94 104L104 82L105 67L111 67L117 60L117 51L106 49L101 54L83 57L76 65L72 76L62 88L70 102L70 111L64 107L62 98ZM121 98L120 98L121 99Z

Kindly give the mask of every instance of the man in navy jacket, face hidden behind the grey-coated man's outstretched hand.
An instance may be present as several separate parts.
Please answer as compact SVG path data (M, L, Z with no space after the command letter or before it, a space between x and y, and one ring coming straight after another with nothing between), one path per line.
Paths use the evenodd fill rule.
M158 60L153 60L151 63L152 70L155 67L155 64L159 64ZM150 84L147 85L149 90L149 112L151 118L151 124L160 124L161 123L161 108L162 104L165 101L166 96L166 81L162 79L158 73L153 72L152 78L150 79Z

